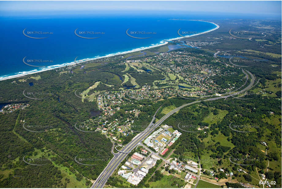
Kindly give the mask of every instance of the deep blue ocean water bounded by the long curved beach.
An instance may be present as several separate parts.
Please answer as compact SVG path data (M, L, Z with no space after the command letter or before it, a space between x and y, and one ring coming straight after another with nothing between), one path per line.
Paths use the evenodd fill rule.
M160 15L30 15L0 16L0 79L22 73L37 72L55 68L85 58L103 57L109 54L122 53L133 49L164 43L163 40L180 37L180 31L190 34L205 32L216 28L209 22L189 20L173 20L173 17ZM25 29L26 28L26 29ZM78 28L78 29L77 29ZM135 39L126 35L148 39ZM32 37L47 37L32 39ZM84 39L82 37L99 37ZM31 34L31 32L49 32L49 34ZM52 32L52 34L50 34ZM81 32L101 32L100 34L83 34ZM151 32L152 34L134 34L134 32ZM182 34L185 35L185 34ZM31 67L30 65L46 66ZM47 61L34 63L31 60Z

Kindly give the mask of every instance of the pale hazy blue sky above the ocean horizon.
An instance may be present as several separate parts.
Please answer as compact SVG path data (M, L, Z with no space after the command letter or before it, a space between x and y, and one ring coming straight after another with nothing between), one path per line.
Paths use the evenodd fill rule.
M281 1L0 1L1 12L37 11L193 11L280 15Z

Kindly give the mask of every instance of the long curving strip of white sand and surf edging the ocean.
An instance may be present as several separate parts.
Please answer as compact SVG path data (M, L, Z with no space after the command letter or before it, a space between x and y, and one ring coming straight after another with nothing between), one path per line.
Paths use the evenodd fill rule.
M175 20L175 19L171 19L171 20ZM208 22L208 21L203 21L203 20L189 20L189 21ZM137 51L140 51L140 50L151 49L151 48L154 48L154 47L157 47L157 46L166 45L168 43L167 41L173 41L173 40L182 39L182 38L185 38L185 37L192 37L192 36L195 36L195 35L201 35L203 33L212 32L212 31L214 31L214 30L216 30L216 29L218 29L220 27L219 25L217 25L217 24L215 24L213 22L209 22L209 23L212 23L212 24L216 25L216 28L210 29L210 30L205 31L205 32L193 34L193 35L185 35L184 37L177 37L177 38L171 38L171 39L163 39L158 44L152 44L152 45L147 46L147 47L140 47L140 48L136 48L136 49L133 49L133 50L117 52L117 53L111 53L111 54L107 54L107 55L102 56L102 57L98 56L98 57L95 57L95 58L84 58L84 59L78 60L76 62L73 61L73 62L70 62L70 63L63 63L63 64L60 64L60 65L44 66L44 67L46 67L45 69L44 69L44 67L42 67L43 69L41 69L41 70L37 70L36 69L36 71L35 70L31 70L31 71L27 71L27 72L18 72L18 74L13 75L13 76L2 76L2 77L0 77L0 81L12 79L12 78L17 78L17 77L21 77L21 76L26 76L26 75L30 75L30 74L34 74L34 73L44 72L44 71L48 71L48 70L52 70L52 69L57 69L57 68L65 67L65 66L71 66L71 65L75 65L77 63L81 63L81 62L86 61L86 60L97 60L97 59L101 59L101 58L105 58L105 57L112 57L112 56L116 56L116 55L122 55L122 54L137 52Z

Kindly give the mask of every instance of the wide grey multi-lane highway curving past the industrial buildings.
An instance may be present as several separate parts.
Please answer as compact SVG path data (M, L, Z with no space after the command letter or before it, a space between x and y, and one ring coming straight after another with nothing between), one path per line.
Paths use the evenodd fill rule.
M254 84L254 80L255 77L253 76L252 73L250 73L247 70L242 69L243 71L246 71L250 76L251 76L251 82L250 84L244 88L243 90L237 92L237 93L242 93L244 91L249 90L253 84ZM143 141L152 131L155 130L155 128L157 128L164 120L166 120L169 116L171 116L173 113L179 111L180 109L192 105L192 104L196 104L198 102L201 101L213 101L213 100L218 100L221 98L228 98L228 97L233 97L232 94L226 95L226 96L220 96L220 97L216 97L216 98L209 98L209 99L205 99L205 100L199 100L199 101L194 101L194 102L190 102L187 104L184 104L182 106L179 106L178 108L175 108L174 110L172 110L171 112L167 113L164 117L162 117L160 120L158 120L156 122L156 124L153 124L153 121L155 120L155 116L157 111L160 109L158 109L155 113L155 115L153 116L153 119L151 121L151 123L149 124L149 126L141 133L139 133L138 135L136 135L130 143L128 143L126 146L124 146L122 148L122 152L124 153L117 153L114 154L114 157L111 159L111 161L108 163L108 165L105 167L105 169L101 172L101 174L99 175L99 177L96 179L95 183L93 183L93 185L91 186L91 188L103 188L103 186L106 184L108 178L111 176L111 174L115 171L115 169L118 168L118 165L126 158L128 152L130 152L131 150L133 150L138 143L141 143L141 141Z

